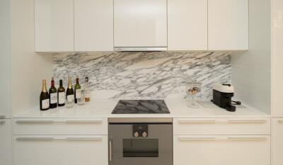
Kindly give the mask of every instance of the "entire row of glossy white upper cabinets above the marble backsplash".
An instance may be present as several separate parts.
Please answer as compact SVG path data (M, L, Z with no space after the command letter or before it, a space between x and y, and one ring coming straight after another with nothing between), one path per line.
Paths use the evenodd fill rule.
M248 50L248 0L35 0L35 52L113 47Z

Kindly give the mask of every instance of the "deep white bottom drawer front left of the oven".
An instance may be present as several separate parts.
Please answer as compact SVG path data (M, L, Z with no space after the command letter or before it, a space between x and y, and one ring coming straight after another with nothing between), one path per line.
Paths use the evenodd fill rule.
M15 165L107 165L107 135L19 135Z

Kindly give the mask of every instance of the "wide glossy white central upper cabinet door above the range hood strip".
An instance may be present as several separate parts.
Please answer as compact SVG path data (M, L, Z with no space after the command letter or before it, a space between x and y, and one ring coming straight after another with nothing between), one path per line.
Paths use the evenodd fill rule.
M167 1L115 0L114 47L167 47Z

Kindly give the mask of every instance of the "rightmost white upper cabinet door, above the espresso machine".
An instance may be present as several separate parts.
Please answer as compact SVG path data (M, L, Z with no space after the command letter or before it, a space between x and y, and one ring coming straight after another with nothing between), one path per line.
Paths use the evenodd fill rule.
M248 0L208 0L208 49L248 50Z

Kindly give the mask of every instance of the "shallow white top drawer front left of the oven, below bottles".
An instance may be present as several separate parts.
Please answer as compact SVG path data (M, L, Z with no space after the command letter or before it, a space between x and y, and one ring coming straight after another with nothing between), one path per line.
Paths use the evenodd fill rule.
M108 135L107 118L17 118L14 135Z

